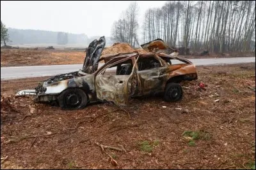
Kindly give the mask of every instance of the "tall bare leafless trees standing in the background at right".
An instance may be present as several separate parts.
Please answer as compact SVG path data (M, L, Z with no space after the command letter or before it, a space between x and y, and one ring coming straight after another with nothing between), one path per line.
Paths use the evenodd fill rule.
M134 46L130 39L138 38L138 22L132 24L137 16L128 16L113 24L112 38ZM166 1L148 9L140 26L143 43L161 38L194 52L255 52L255 1Z

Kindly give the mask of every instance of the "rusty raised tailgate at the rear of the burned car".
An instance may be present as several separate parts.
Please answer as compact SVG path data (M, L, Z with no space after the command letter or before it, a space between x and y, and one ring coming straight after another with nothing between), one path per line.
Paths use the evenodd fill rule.
M158 51L163 52L164 50L169 49L169 46L166 45L166 43L164 43L163 39L159 39L159 38L140 46L143 48L143 50L147 52L158 52Z

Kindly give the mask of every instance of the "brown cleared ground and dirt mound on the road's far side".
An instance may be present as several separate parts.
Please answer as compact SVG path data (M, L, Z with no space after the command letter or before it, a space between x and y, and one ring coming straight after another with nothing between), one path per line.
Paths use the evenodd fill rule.
M126 43L115 43L113 46L104 48L102 56L127 53L127 52L145 52L142 48L132 48ZM39 48L20 48L20 49L2 49L1 48L1 67L8 66L40 66L56 64L83 64L86 52L81 50L45 50ZM252 57L255 53L223 53L211 54L205 56L187 55L180 56L187 59L219 58L219 57Z

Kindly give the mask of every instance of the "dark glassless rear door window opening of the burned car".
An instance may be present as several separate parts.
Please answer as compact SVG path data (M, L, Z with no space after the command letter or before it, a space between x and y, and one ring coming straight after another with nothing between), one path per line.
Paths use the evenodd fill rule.
M157 67L162 67L159 60L155 57L141 57L138 60L138 71L146 70L146 69L154 69Z

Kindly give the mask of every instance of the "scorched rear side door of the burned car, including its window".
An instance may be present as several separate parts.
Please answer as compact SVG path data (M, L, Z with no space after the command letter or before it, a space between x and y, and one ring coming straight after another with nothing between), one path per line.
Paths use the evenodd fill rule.
M163 91L167 78L167 64L156 55L140 57L137 64L142 94L149 95Z

